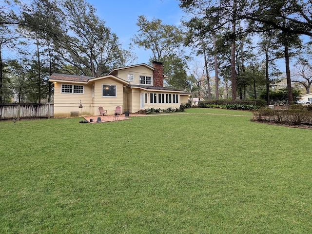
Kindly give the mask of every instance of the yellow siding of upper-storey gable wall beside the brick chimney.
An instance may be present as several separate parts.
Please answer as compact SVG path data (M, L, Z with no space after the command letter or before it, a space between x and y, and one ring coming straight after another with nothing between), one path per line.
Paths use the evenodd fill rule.
M128 74L133 74L134 81L128 80ZM119 70L117 73L117 77L129 81L130 84L139 84L139 76L149 76L152 77L152 85L153 85L153 71L144 66L132 67L128 69Z

